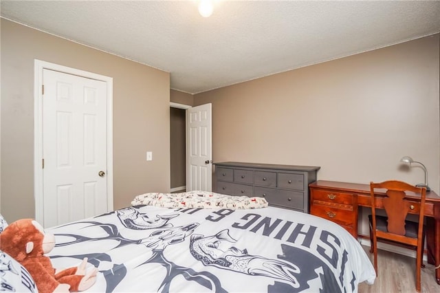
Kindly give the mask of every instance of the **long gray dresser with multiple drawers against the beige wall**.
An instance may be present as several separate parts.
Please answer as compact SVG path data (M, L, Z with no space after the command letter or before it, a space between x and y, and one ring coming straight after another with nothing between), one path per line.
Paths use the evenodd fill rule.
M309 184L318 166L220 162L215 165L215 192L265 197L270 206L309 213Z

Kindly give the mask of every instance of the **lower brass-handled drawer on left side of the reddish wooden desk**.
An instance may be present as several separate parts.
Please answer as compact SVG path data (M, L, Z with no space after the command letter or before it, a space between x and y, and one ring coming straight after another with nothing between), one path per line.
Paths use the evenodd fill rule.
M353 207L348 209L337 208L333 206L322 206L319 204L312 204L310 207L311 215L316 215L329 221L333 221L341 226L353 227L358 225L356 213Z

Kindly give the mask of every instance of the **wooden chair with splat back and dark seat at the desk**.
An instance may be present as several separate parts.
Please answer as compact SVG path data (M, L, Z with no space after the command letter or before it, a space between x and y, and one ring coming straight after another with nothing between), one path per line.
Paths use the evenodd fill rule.
M377 207L375 188L386 190L383 198L383 207ZM406 199L406 192L420 195L420 202L415 204ZM382 183L370 183L371 215L369 215L371 248L374 253L374 268L377 275L377 239L384 239L387 243L404 244L417 250L416 256L416 282L417 292L420 292L420 268L423 259L424 229L423 229L423 206L426 198L426 188L412 186L401 181L386 181ZM376 209L384 209L386 216L376 215ZM408 221L406 216L409 210L419 211L419 222Z

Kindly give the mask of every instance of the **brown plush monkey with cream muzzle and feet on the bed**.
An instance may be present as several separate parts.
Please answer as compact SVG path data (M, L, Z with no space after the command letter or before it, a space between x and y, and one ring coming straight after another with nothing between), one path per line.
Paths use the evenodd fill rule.
M29 272L39 292L76 292L87 290L96 281L98 270L86 274L87 258L76 268L56 272L45 253L55 247L55 237L45 233L34 219L14 221L0 234L0 250L16 259Z

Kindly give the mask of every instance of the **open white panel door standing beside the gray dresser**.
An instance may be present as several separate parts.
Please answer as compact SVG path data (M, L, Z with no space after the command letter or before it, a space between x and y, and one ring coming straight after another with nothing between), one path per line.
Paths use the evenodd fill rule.
M186 191L212 191L211 104L186 110Z

